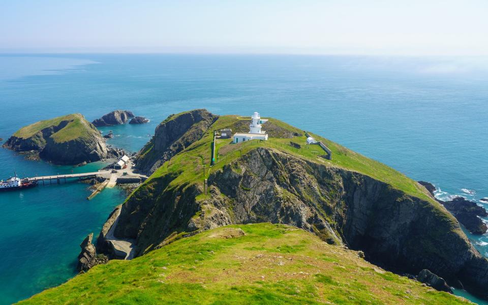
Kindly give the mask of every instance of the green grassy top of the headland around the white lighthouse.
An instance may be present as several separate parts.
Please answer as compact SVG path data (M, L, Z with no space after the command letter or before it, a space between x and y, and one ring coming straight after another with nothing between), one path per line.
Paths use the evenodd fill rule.
M302 145L302 149L295 149L287 145L292 140L296 143L304 144L306 137L303 132L295 127L292 127L282 121L276 119L269 119L269 122L274 126L278 126L284 130L290 130L302 134L302 136L289 138L270 137L268 141L249 141L238 144L230 144L230 139L222 139L217 141L217 164L210 168L210 171L215 171L222 168L225 164L237 159L241 154L245 154L250 149L258 146L271 147L286 151L288 154L292 154L296 157L312 160L314 162L329 164L332 166L342 167L348 170L357 171L365 175L371 176L375 179L387 182L394 188L400 189L405 193L416 196L435 204L427 194L426 190L419 186L417 182L408 178L404 174L388 167L380 162L374 161L354 151L341 146L332 141L326 140L322 137L316 136L317 139L322 140L332 150L332 160L325 160L319 155L323 154L322 149L316 145ZM206 164L206 176L208 175L208 165L210 163L210 145L212 141L212 131L222 128L232 128L239 123L239 119L234 115L221 116L212 125L211 129L193 145L181 151L178 155L173 157L169 162L166 162L161 168L159 168L151 178L157 178L165 175L168 172L181 172L181 175L173 181L173 185L187 184L190 182L201 181L203 178L202 160ZM266 124L263 125L263 129L266 129ZM233 132L236 129L233 128ZM238 130L237 130L238 131ZM280 134L278 132L278 134ZM315 135L314 135L315 136ZM149 179L150 181L150 179Z

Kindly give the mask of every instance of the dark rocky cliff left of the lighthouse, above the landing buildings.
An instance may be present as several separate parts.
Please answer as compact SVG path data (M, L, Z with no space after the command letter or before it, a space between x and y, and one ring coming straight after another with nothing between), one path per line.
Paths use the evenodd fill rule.
M168 117L156 127L153 138L139 151L137 168L153 173L165 161L200 139L218 115L196 109Z

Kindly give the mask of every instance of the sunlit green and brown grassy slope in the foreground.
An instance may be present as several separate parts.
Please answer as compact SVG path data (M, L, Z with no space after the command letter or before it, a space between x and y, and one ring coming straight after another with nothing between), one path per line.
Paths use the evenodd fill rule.
M223 238L240 228L245 236ZM463 304L284 225L235 225L112 260L22 303Z

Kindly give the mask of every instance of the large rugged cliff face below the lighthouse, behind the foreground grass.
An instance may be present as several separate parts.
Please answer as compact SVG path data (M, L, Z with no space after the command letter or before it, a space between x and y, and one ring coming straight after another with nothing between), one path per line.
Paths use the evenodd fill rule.
M209 195L197 197L199 185L173 186L174 178L150 180L121 208L115 236L134 238L137 255L180 232L283 223L361 250L391 270L417 274L429 269L451 285L461 281L487 296L488 261L444 207L369 176L256 148L213 172ZM201 209L206 210L203 220Z

